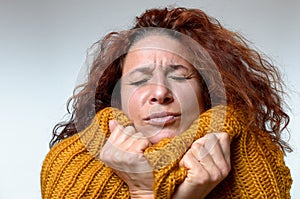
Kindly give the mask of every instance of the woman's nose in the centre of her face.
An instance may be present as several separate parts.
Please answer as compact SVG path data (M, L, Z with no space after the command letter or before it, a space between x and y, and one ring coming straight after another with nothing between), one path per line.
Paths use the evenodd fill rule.
M153 84L149 99L150 104L169 104L174 101L172 91L165 85Z

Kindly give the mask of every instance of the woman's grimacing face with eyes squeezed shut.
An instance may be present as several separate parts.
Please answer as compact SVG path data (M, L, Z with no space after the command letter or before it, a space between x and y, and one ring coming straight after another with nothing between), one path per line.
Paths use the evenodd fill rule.
M180 51L186 52L175 39L147 36L124 61L122 110L151 143L182 133L203 111L199 75Z

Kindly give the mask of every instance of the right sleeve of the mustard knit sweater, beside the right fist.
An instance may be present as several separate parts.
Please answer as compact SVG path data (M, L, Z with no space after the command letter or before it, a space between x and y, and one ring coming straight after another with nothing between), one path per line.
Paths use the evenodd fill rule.
M232 140L229 175L207 198L286 199L291 184L284 153L269 134L245 130Z

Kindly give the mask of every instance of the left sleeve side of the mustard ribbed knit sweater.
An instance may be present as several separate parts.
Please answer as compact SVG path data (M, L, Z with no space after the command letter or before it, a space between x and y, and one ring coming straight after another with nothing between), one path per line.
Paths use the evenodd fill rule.
M95 117L49 151L40 175L43 199L130 198L127 185L98 159L107 133L101 122L107 121Z

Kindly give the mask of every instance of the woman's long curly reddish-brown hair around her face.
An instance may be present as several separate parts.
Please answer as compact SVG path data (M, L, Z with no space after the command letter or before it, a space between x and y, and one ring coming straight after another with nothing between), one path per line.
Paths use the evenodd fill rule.
M227 30L218 20L199 9L146 10L136 17L136 23L130 30L140 28L170 29L198 42L221 74L226 92L225 103L244 109L249 118L248 126L266 131L283 151L292 151L282 139L282 132L287 129L290 118L284 110L284 84L280 73L271 61L250 48L245 38ZM54 127L50 147L87 127L99 110L119 103L112 102L112 95L119 95L114 89L118 89L118 81L122 76L126 57L124 52L144 36L142 31L130 34L111 32L94 44L98 50L88 80L74 89L67 103L70 118ZM218 88L219 84L213 78L210 82L210 85L203 85L205 109L211 106L211 98L207 93ZM114 99L120 98L116 96ZM72 111L69 109L71 104Z

